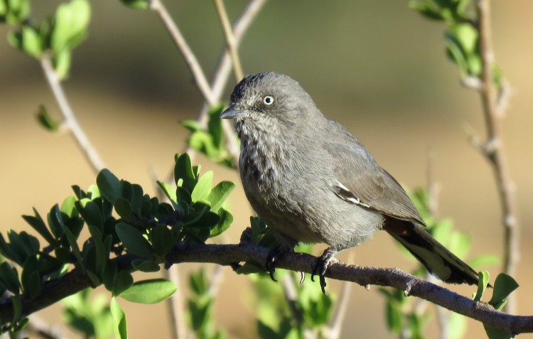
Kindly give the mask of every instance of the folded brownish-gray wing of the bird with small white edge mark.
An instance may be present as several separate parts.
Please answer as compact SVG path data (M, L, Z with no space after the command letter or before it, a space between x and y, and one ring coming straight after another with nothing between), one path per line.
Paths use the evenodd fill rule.
M381 168L357 139L353 144L326 143L338 183L335 193L369 210L425 225L402 186Z

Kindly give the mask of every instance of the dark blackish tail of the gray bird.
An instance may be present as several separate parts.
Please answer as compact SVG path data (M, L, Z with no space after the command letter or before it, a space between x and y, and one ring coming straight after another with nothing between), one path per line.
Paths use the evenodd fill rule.
M384 230L414 255L426 269L450 284L477 285L478 273L414 222L387 218Z

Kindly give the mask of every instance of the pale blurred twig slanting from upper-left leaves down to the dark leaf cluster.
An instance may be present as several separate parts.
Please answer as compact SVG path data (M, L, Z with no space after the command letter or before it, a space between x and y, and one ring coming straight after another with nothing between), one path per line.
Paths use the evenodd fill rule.
M50 85L55 100L58 102L60 111L65 118L63 126L68 127L72 136L74 136L77 145L80 146L83 154L85 154L85 158L87 158L87 161L89 161L92 166L92 169L98 173L105 167L104 161L102 161L102 158L98 155L95 147L92 146L89 138L87 138L87 134L85 134L85 131L83 131L82 127L77 122L72 107L70 107L70 104L68 103L63 86L61 86L58 73L55 72L52 60L50 60L50 55L48 55L48 53L45 53L41 58L41 68L43 68L48 85Z

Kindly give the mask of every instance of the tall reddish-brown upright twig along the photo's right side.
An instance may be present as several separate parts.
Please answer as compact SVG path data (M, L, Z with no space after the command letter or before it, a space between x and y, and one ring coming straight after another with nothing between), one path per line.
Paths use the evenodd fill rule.
M512 183L505 157L505 147L502 139L502 114L498 104L495 88L494 51L492 50L492 32L490 27L490 1L478 0L479 39L481 56L481 101L485 116L487 141L483 147L483 154L492 165L495 173L497 190L502 207L502 225L504 227L504 263L503 271L515 276L519 262L519 223L517 220L517 203L515 186ZM515 313L516 294L507 299L506 311Z

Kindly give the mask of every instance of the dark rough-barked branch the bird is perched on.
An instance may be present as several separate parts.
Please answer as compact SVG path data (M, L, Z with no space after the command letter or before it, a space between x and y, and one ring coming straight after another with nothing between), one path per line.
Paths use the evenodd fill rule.
M238 262L251 262L263 266L269 249L252 244L178 244L173 248L166 260L169 263L204 262L235 267ZM131 262L139 257L124 254L114 262L119 269L130 269ZM145 258L146 259L146 258ZM286 253L279 259L276 266L280 269L303 271L310 273L316 257L303 253ZM491 328L509 330L512 335L533 333L533 316L511 316L496 311L485 303L473 301L460 296L441 286L431 284L399 269L382 269L375 267L358 267L342 263L332 264L325 274L330 279L352 281L361 286L390 286L404 291L406 296L417 296L437 305L481 321ZM23 298L22 313L24 316L36 312L59 301L65 296L75 294L90 286L89 279L80 269L74 269L60 279L48 281L36 298ZM318 288L318 287L317 287ZM13 316L11 301L0 304L0 321L9 322Z

